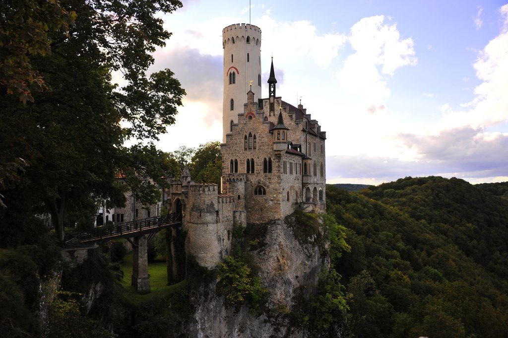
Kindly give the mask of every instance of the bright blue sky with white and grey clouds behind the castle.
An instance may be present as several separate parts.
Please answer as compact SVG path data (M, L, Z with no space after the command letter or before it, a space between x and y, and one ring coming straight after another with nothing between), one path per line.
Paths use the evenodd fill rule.
M184 0L151 71L187 91L158 146L220 140L222 29L248 0ZM501 1L251 0L262 81L327 131L327 181L378 184L440 175L508 180L508 5ZM268 88L263 87L263 97Z

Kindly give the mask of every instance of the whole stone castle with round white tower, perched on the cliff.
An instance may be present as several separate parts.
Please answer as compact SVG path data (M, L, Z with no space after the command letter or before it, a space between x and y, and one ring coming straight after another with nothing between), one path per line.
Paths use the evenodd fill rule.
M326 132L301 103L295 107L276 96L273 59L269 95L261 98L261 29L227 26L223 47L222 189L195 183L184 170L163 193L169 209L182 214L185 252L208 268L229 254L233 224L282 219L298 206L326 207ZM176 238L179 230L172 231ZM175 275L178 265L173 258Z

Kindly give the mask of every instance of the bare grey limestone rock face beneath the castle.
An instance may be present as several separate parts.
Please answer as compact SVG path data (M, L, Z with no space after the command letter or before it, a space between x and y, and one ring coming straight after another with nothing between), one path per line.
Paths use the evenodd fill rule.
M216 282L212 282L193 299L196 312L187 329L190 337L306 337L306 332L290 327L285 314L295 310L298 298L312 292L322 266L329 267L328 256L324 258L319 245L311 241L301 245L282 220L268 225L263 242L252 257L263 287L270 291L270 310L256 316L246 305L228 308L224 296L216 292Z

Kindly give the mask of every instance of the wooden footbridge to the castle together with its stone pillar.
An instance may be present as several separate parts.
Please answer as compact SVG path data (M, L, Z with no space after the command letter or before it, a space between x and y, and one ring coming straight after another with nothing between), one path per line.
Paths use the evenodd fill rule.
M110 224L94 227L86 231L74 231L67 233L69 240L66 247L83 248L102 240L126 238L132 244L134 255L132 262L131 285L138 293L150 292L150 280L148 275L148 237L156 232L170 227L182 225L181 213L169 213L161 216L145 218L131 222Z

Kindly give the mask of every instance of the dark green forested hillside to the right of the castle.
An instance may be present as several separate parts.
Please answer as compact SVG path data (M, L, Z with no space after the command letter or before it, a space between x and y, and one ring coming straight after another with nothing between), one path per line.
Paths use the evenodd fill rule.
M351 335L508 336L504 185L406 177L359 193L329 186L327 211L351 245L334 266Z

